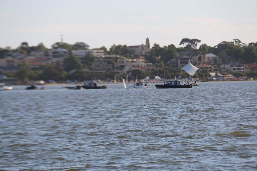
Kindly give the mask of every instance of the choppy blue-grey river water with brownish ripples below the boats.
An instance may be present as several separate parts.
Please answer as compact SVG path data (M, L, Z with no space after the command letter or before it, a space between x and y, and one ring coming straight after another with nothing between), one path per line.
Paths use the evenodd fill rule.
M199 84L2 91L0 170L257 170L257 81Z

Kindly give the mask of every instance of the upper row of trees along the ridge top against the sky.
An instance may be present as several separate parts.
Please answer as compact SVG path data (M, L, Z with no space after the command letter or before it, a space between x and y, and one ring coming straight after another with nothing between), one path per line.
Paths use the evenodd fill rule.
M202 44L197 48L201 40L183 38L179 45L184 47L177 48L174 44L160 47L159 44L154 43L151 51L145 54L145 59L153 64L159 64L159 66L166 65L167 61L177 57L178 53L186 51L192 51L194 54L208 54L212 53L222 59L222 63L226 63L228 58L233 58L235 62L253 63L257 62L257 42L256 43L242 43L239 39L233 39L231 42L223 41L218 45L211 47L206 44ZM68 51L72 50L88 50L89 45L83 42L76 42L75 44L56 42L52 45L52 48L64 48ZM3 54L6 52L20 51L25 55L28 55L31 51L46 50L47 48L43 43L39 43L38 46L29 46L27 42L22 42L17 49L11 49L11 47L0 48L0 58L3 58ZM104 54L109 55L123 55L128 58L138 58L139 55L130 54L128 46L125 45L112 45L109 50L102 46L92 50L103 50Z

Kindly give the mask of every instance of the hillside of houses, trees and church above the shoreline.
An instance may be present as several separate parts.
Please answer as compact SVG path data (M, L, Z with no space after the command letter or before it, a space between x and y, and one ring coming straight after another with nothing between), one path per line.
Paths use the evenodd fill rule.
M30 80L85 81L92 79L110 79L117 76L121 80L125 75L130 79L139 75L154 80L166 73L167 79L176 74L182 78L215 78L232 74L235 77L257 76L257 43L222 42L215 47L202 44L201 40L181 40L176 48L173 44L160 47L150 46L149 38L141 45L113 45L89 49L89 45L77 42L74 45L57 42L51 49L43 43L30 47L27 42L17 49L0 49L0 81ZM186 67L186 66L191 67ZM192 68L194 68L192 70ZM214 74L214 75L213 75ZM168 78L169 77L169 78ZM115 77L116 78L116 77Z

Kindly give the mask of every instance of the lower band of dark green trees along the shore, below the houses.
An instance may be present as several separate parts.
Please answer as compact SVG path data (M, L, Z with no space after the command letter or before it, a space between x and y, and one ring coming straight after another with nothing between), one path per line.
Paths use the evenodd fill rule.
M38 70L31 69L27 64L19 64L20 69L18 72L6 73L6 76L9 78L18 79L19 83L26 83L30 80L54 80L56 82L65 82L67 80L70 81L78 81L83 82L87 80L99 79L99 80L114 80L116 73L114 71L106 71L106 72L94 72L89 70L83 70L83 68L76 69L73 72L67 72L64 70L61 65L57 62L56 65L46 64L43 65ZM222 72L222 75L227 75L229 72ZM257 70L248 71L245 73L233 72L230 73L236 77L244 77L248 76L250 78L257 77ZM135 77L138 76L138 79L145 79L149 76L150 79L154 80L155 76L159 76L165 79L174 79L180 76L182 79L189 78L189 74L182 70L181 68L172 68L172 67L164 67L162 69L155 69L152 72L143 73L141 70L133 70L132 74L129 75L129 80L135 80ZM193 75L193 78L209 78L210 73L207 69L197 70ZM218 77L218 75L216 75ZM126 78L126 74L116 75L116 80L121 81Z

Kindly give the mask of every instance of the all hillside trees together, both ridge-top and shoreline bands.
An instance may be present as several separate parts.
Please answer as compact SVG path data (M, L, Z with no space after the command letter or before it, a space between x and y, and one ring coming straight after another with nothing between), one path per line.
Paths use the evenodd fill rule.
M162 67L166 66L167 61L170 59L174 59L177 57L178 53L183 53L186 51L192 51L192 53L196 54L208 54L213 53L222 58L222 62L226 63L227 59L234 58L236 62L242 62L242 63L253 63L257 62L257 42L256 43L249 43L246 45L245 43L242 43L239 39L234 39L231 42L221 42L218 45L211 47L206 44L200 45L200 47L197 49L198 43L200 43L201 40L198 39L188 39L183 38L180 42L180 45L183 45L184 47L176 48L173 44L168 46L160 47L158 44L154 44L151 48L151 51L145 54L145 59L151 63L153 63L156 67ZM52 79L55 81L64 81L64 80L91 80L91 79L114 79L114 72L102 72L97 73L93 71L85 71L84 69L90 69L93 62L93 57L91 54L86 55L86 65L83 66L80 62L80 59L78 59L75 55L71 53L72 50L88 50L89 45L83 42L76 42L75 44L71 45L68 43L60 43L57 42L52 45L52 48L64 48L68 50L69 57L64 61L65 67L61 67L60 64L56 65L49 65L46 64L38 69L31 69L26 64L19 64L20 69L17 73L7 73L6 75L8 77L17 78L20 81L27 81L27 80L48 80ZM16 52L19 51L21 53L24 53L25 55L29 54L31 51L36 50L46 50L47 48L44 46L43 43L38 44L38 46L29 46L27 42L21 43L21 46L19 46L17 49L11 49L11 47L6 48L0 48L0 57L3 58L3 54L6 52ZM104 51L105 54L112 54L112 55L123 55L127 58L137 59L140 58L139 55L136 54L129 54L129 48L126 45L113 45L109 50L102 46L100 48ZM93 49L92 49L93 50ZM112 63L112 61L110 61ZM114 68L117 66L114 63L112 63ZM217 64L218 65L218 64ZM222 75L227 74L228 72L222 72L219 71L217 65L214 65L214 68L216 71L221 73ZM69 74L69 71L74 70L72 74ZM185 73L184 70L181 70L180 68L176 68L174 66L171 67L165 67L162 70L154 70L151 73L142 73L140 70L133 71L133 74L137 72L138 76L140 76L141 79L144 79L146 76L163 76L166 75L165 78L175 78L176 74L180 74L182 78L188 78L188 73ZM235 76L257 76L256 71L249 71L246 73L238 73L234 72L231 73ZM194 77L196 76L202 77L202 78L208 78L210 76L209 72L205 70L198 70ZM117 76L117 80L122 79L124 76Z

